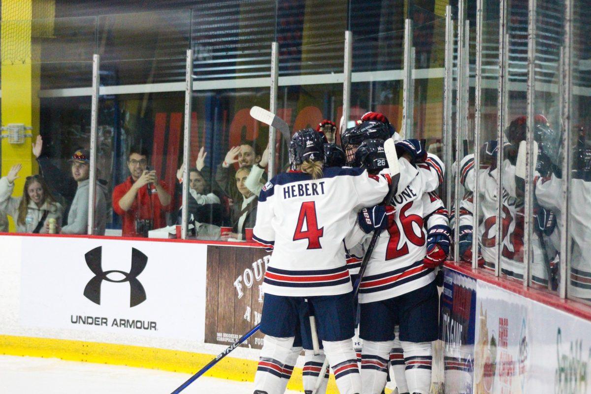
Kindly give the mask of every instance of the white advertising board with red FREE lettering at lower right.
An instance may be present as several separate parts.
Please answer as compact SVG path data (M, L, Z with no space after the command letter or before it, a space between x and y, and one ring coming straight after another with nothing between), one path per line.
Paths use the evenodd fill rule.
M591 322L482 281L476 299L474 393L591 393Z

